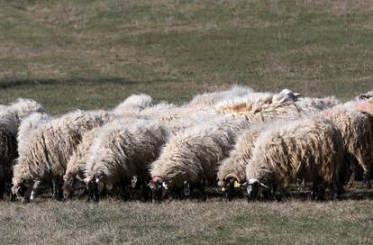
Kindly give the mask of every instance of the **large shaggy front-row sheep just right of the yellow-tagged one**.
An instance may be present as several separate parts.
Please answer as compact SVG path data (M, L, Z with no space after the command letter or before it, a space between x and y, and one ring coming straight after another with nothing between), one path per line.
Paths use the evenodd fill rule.
M314 183L314 197L323 200L323 185L338 197L343 159L341 132L320 116L279 122L261 132L246 164L248 200L260 191L284 191L297 178Z

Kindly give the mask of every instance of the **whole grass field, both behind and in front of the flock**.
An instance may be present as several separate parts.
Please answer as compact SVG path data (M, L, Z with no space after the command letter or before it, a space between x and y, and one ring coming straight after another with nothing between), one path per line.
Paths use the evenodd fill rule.
M0 103L50 113L232 84L348 100L373 89L373 3L0 1ZM373 202L0 204L0 243L372 244Z

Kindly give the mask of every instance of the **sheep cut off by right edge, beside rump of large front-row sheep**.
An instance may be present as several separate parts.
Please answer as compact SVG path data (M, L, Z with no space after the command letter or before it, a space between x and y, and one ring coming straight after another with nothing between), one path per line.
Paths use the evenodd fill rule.
M352 185L359 166L363 169L365 183L370 186L373 139L368 116L343 105L323 111L322 114L341 131L343 149L352 169L349 184Z

